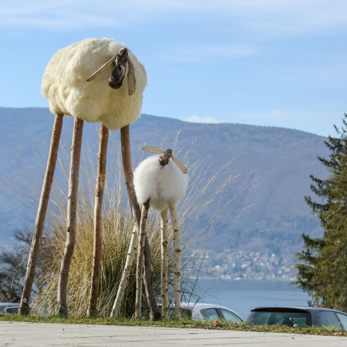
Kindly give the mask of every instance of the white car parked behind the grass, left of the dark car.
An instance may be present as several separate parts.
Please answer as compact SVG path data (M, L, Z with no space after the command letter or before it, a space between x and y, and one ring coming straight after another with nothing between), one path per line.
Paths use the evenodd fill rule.
M226 319L235 323L244 321L239 314L228 307L210 303L181 303L182 316L197 321ZM170 307L169 316L174 316L174 307Z

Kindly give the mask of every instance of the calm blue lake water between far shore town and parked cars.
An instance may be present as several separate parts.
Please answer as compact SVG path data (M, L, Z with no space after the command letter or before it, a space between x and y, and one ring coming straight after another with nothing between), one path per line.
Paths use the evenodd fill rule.
M229 307L242 318L257 306L307 306L309 296L288 281L276 280L198 280L204 303Z

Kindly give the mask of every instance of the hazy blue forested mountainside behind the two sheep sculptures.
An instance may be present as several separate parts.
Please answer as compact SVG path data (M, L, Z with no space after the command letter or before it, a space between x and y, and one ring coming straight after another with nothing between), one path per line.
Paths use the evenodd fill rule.
M36 167L35 164L41 160L35 158L31 146L39 149L43 156L47 155L43 142L49 144L53 115L45 108L0 108L0 119L0 174L11 178L13 176L15 179L15 171L10 168L15 167L15 162L21 157L31 164L31 170L40 169L36 174L43 176L42 165L37 164ZM62 141L71 141L72 121L73 119L65 117ZM90 147L95 158L98 126L85 124L83 139L84 146ZM135 163L142 155L140 146L162 146L163 139L166 142L164 147L182 149L178 157L183 161L189 150L188 166L210 155L208 167L205 168L206 174L210 176L235 158L228 167L228 174L235 176L235 187L239 189L223 194L221 203L237 196L240 189L245 189L247 185L256 186L235 198L228 209L223 211L223 217L217 223L219 228L210 237L211 254L253 251L274 253L286 258L301 250L302 232L313 237L321 234L319 222L311 214L304 196L310 194L310 174L319 178L327 176L325 168L316 159L316 155L328 155L323 137L286 128L193 124L151 115L142 115L130 125L130 137ZM116 151L118 144L118 132L114 132L111 136L109 161L115 157L112 151ZM260 178L255 180L257 177ZM220 184L215 182L209 188L210 191L213 192ZM35 216L26 216L23 211L19 211L15 201L11 201L6 195L6 189L2 187L1 191L0 235L10 237L13 227L32 228ZM239 211L248 205L252 205L251 208L235 219L240 214ZM207 214L205 212L204 218L208 217ZM26 224L19 217L31 222ZM259 222L266 223L254 226ZM263 229L273 230L244 237ZM7 244L3 237L0 244ZM239 237L244 238L232 241Z

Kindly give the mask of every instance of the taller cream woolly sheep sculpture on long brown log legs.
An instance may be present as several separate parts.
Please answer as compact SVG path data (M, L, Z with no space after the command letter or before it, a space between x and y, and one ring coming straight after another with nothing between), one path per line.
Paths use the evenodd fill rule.
M49 109L56 115L51 147L35 221L35 230L26 269L26 279L19 312L30 312L29 300L35 276L38 249L42 237L51 183L56 167L63 115L75 117L71 145L69 201L67 204L67 242L60 268L58 284L58 314L67 316L67 280L76 238L76 205L78 171L81 157L83 121L101 122L94 201L94 254L92 286L87 314L96 314L101 258L101 205L105 183L108 132L121 128L121 148L124 174L130 205L139 228L140 210L133 188L130 157L129 124L140 115L142 94L146 86L146 71L125 44L115 40L86 39L60 49L46 66L42 79L42 95L49 100ZM154 294L154 291L153 291ZM152 307L151 307L152 308ZM154 307L153 310L158 310Z

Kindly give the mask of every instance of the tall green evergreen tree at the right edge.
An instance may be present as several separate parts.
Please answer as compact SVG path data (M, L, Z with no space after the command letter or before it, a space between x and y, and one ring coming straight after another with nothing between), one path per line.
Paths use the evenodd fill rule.
M328 159L318 157L330 175L325 180L310 176L312 192L320 202L305 196L324 229L321 239L303 234L304 250L296 253L298 280L294 282L312 296L310 305L321 305L347 312L347 115L339 137L325 141Z

